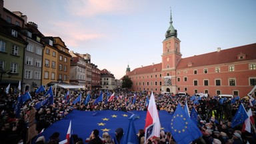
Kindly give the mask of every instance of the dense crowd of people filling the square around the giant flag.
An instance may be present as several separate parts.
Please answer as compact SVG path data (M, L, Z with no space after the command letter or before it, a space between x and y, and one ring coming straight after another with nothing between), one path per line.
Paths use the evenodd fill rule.
M73 103L81 93L81 100ZM115 93L111 101L107 101ZM54 97L54 103L44 103L41 107L36 107L37 103L43 101L49 96L44 93L30 93L31 99L28 99L21 106L21 111L17 113L15 107L18 103L19 93L5 94L0 96L0 139L3 143L27 143L27 133L29 126L29 112L35 109L35 124L37 133L47 129L52 123L61 120L71 113L73 109L80 111L147 111L147 105L150 98L150 92L132 92L123 89L115 91L103 91L103 99L94 103L99 97L99 90L71 90L67 95L66 89L58 89ZM87 99L90 97L90 99ZM251 105L249 99L225 99L220 103L218 97L202 97L197 103L191 100L191 96L179 97L178 95L164 95L155 93L155 103L158 110L165 110L174 113L178 103L184 107L187 102L189 110L195 107L198 113L197 126L203 134L202 137L193 141L193 143L256 143L255 127L251 128L251 133L242 131L243 125L231 127L231 121L237 112L241 103L246 110L253 111L255 118L255 105ZM16 107L17 108L17 107ZM61 131L61 133L66 133ZM119 143L123 135L123 129L117 129L117 137L109 137L107 133L99 135L99 130L95 129L90 135L89 143ZM144 143L145 131L143 127L138 131L139 143ZM35 143L59 143L59 132L53 133L49 141L45 137L38 137ZM85 143L79 135L72 135L75 143ZM101 139L99 138L101 137ZM113 140L116 139L116 141ZM47 138L48 139L48 138ZM94 139L94 140L93 140ZM99 139L101 141L99 141ZM161 131L161 136L157 139L149 139L147 143L175 143L175 139L169 131Z

